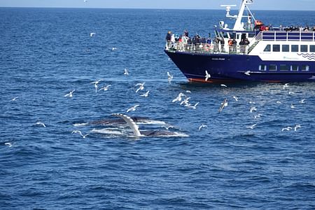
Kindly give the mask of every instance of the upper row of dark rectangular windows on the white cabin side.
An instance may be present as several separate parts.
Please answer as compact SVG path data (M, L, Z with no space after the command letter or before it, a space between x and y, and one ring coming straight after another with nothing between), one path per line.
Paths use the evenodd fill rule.
M315 45L266 45L264 52L315 52Z

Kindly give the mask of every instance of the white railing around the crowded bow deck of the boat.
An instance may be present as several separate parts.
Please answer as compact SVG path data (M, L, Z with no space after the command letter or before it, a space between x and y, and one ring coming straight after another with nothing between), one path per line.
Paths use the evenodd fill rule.
M221 45L221 44L186 44L183 42L167 41L165 49L168 51L190 52L190 53L204 53L204 54L234 54L247 55L248 45Z

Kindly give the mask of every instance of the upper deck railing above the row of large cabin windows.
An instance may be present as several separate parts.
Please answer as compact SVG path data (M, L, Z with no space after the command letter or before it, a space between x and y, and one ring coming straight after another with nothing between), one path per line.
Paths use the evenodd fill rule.
M315 31L261 31L259 41L315 41Z

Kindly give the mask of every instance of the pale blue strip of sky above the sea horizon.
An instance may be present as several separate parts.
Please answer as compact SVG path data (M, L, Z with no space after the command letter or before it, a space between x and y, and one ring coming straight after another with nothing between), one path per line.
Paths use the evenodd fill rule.
M240 0L0 0L0 7L223 9ZM315 0L254 0L253 10L315 10Z

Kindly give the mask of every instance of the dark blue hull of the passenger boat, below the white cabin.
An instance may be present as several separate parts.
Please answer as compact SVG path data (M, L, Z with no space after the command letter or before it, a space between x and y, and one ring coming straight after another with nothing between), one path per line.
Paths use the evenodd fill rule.
M211 74L207 80L209 83L215 82L235 82L235 81L262 81L262 82L303 82L315 80L315 62L297 61L263 61L256 55L219 55L188 53L165 50L174 64L179 67L183 74L190 81L205 81L205 71ZM260 65L269 66L276 64L277 71L261 71ZM308 71L280 71L282 64L307 65ZM246 72L250 72L246 75ZM248 73L247 73L248 74Z

